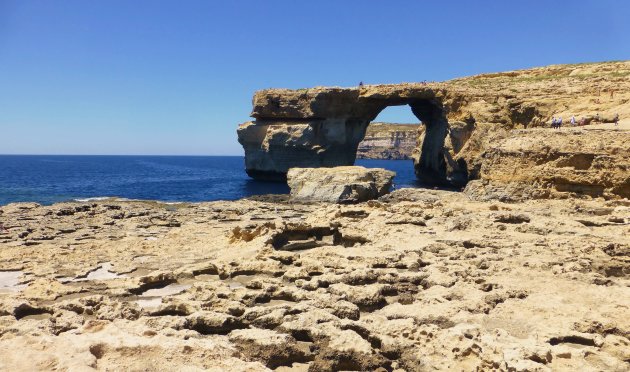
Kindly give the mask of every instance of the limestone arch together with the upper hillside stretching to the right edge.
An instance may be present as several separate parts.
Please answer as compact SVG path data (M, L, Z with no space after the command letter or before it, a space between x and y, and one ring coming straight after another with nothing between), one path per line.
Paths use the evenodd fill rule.
M256 92L253 122L238 129L254 178L284 179L292 167L354 163L368 124L388 106L409 105L426 128L416 175L465 184L480 171L486 138L540 127L552 116L630 118L630 62L555 65L477 75L443 83ZM479 132L479 133L478 133ZM471 146L468 141L475 141ZM459 149L459 151L457 151Z

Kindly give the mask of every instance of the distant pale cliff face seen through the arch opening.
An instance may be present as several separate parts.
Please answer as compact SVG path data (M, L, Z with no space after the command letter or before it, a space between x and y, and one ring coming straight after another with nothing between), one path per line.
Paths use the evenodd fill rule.
M410 160L423 131L420 124L372 123L359 143L357 159Z

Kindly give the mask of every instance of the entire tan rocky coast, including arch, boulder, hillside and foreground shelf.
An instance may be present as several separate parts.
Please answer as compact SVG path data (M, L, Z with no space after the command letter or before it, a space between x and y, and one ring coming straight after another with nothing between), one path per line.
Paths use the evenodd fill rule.
M626 371L629 73L261 91L246 170L291 195L0 206L0 370ZM339 167L399 104L463 192Z

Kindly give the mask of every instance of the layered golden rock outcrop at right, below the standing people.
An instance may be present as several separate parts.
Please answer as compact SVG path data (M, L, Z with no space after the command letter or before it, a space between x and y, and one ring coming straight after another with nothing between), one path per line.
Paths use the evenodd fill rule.
M515 130L496 138L481 159L475 199L588 196L630 198L630 132Z

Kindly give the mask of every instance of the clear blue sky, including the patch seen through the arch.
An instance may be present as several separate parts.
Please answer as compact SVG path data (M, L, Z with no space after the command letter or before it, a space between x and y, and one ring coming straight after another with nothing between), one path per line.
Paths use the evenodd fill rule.
M257 89L620 59L626 0L0 0L0 154L239 155Z

